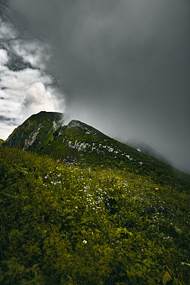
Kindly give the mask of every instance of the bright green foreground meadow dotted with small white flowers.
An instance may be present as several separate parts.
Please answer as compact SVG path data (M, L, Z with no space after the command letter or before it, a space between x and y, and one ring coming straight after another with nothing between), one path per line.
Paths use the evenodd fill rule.
M0 284L188 284L189 195L0 147Z

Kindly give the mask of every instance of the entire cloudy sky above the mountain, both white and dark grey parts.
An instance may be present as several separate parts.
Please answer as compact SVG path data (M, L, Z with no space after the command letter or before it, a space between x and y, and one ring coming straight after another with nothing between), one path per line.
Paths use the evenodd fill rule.
M70 111L190 170L189 0L1 3L1 138L39 110Z

